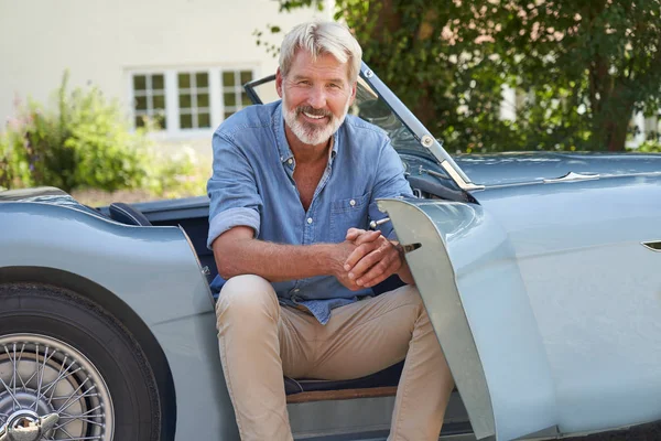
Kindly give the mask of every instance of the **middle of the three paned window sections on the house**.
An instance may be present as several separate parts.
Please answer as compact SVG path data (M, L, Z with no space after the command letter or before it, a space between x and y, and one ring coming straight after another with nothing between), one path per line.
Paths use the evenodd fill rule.
M177 75L178 115L181 129L212 127L208 72Z

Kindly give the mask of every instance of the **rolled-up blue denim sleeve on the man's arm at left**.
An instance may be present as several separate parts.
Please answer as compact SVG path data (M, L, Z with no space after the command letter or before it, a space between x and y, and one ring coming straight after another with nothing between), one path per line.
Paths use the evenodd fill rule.
M256 176L245 152L231 136L215 132L214 173L207 183L209 233L207 247L223 233L237 226L247 226L259 235L262 200L257 191Z

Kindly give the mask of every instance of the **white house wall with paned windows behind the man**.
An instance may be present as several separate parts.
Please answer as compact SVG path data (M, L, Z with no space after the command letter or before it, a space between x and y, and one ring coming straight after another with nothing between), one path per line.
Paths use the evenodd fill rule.
M72 86L98 86L137 126L159 119L162 141L209 149L248 103L241 84L275 73L253 32L330 19L327 3L279 13L277 0L0 0L0 119L15 99L47 101L68 69ZM279 44L282 33L264 36Z

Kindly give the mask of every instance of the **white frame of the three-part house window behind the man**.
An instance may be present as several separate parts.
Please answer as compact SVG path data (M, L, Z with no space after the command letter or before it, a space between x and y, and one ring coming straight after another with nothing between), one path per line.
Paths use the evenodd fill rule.
M152 133L156 139L195 139L210 137L214 130L223 122L224 115L226 111L225 107L225 85L223 85L221 78L223 73L227 71L237 72L240 75L241 71L252 72L252 79L260 78L259 64L228 64L219 66L181 66L181 67L152 67L147 69L127 69L127 96L129 97L129 111L131 121L136 123L136 94L133 90L133 76L134 75L154 75L162 74L165 79L165 130L160 130ZM210 128L193 128L182 129L180 125L180 88L178 88L178 74L196 74L206 73L208 75L208 94L209 94L209 114L210 114ZM239 76L240 78L240 76ZM232 89L239 90L242 85L231 86ZM229 89L229 87L227 87ZM187 89L189 90L189 89ZM240 96L240 95L239 95ZM230 106L231 111L237 111L236 108L241 108L242 104L237 103L237 106ZM192 110L197 108L193 107ZM198 109L197 109L198 110Z

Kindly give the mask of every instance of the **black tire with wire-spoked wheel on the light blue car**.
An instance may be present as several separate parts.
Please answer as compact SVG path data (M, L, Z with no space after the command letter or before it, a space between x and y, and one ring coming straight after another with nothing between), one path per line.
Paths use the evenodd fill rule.
M0 284L0 427L10 415L56 412L48 439L158 441L163 434L144 352L116 318L69 290Z

